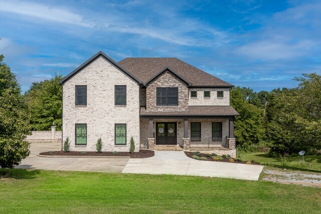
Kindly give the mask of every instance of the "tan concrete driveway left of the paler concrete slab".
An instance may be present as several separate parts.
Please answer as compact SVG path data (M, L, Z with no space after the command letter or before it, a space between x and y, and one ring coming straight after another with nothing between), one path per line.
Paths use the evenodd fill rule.
M61 150L61 143L32 143L31 154L16 168L69 171L121 172L129 158L38 157L45 151Z

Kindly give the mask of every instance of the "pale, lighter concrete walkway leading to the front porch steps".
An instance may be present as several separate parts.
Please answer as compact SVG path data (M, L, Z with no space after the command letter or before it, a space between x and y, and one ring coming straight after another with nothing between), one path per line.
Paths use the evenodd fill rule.
M183 151L155 151L143 159L129 159L122 173L178 174L258 180L263 166L202 161L189 158Z

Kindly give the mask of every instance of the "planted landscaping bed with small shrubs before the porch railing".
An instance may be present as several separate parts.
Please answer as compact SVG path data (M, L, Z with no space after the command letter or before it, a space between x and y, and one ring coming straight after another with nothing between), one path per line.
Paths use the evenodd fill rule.
M231 158L230 155L221 155L220 156L220 155L216 155L215 153L204 154L204 153L200 153L198 151L196 151L196 152L184 151L184 152L188 157L196 159L196 160L207 160L207 161L218 161L218 162L229 162L229 163L243 163L243 164L260 165L259 163L256 163L254 161Z

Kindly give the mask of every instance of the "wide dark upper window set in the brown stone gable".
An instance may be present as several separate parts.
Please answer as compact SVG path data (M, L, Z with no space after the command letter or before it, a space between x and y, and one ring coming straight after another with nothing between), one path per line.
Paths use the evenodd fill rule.
M156 88L157 106L178 106L179 88Z

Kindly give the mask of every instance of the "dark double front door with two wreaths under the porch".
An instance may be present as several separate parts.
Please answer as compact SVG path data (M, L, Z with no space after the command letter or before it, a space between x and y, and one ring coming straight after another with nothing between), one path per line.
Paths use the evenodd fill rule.
M176 145L176 122L156 123L156 145Z

